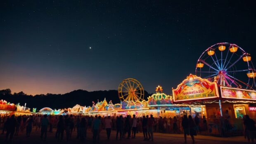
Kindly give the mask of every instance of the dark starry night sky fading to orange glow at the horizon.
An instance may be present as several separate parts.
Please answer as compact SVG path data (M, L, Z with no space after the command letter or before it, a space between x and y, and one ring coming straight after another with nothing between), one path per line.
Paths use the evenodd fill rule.
M215 43L254 60L256 9L246 2L1 0L0 90L116 90L135 78L171 94Z

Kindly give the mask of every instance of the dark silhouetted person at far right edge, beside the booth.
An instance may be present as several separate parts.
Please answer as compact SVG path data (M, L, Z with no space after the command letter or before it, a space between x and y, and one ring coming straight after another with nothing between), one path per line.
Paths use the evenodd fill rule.
M247 132L247 136L249 136L248 142L254 143L254 139L255 139L255 135L256 135L256 127L255 127L255 121L252 120L248 115L244 116L244 126L245 126L245 130Z

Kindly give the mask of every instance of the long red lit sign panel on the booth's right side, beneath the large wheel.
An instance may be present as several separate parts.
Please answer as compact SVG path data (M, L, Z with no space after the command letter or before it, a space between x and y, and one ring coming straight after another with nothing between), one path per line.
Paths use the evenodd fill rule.
M221 97L228 99L256 100L256 91L233 87L220 87Z

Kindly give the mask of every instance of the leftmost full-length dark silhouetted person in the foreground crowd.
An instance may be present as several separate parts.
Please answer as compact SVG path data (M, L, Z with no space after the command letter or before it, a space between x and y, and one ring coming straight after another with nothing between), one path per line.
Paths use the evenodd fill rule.
M16 127L16 119L14 118L14 115L11 116L11 118L7 119L6 121L6 137L5 137L5 141L7 142L8 140L8 137L10 135L10 139L9 141L12 141L12 137L13 137L13 134L14 134L14 131L15 131L15 127Z

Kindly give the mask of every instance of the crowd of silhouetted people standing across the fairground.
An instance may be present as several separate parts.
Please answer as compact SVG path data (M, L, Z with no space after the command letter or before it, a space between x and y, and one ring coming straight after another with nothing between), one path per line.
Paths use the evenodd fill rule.
M55 138L61 142L64 139L64 132L66 141L72 137L76 131L76 138L81 142L85 141L88 130L92 131L93 142L100 141L100 133L102 130L106 131L107 139L110 139L111 131L116 130L116 139L130 139L135 138L136 133L143 132L143 140L154 141L153 132L173 132L183 133L185 143L187 142L187 135L190 135L194 143L194 136L203 129L199 125L199 121L206 124L206 119L199 120L198 116L184 115L183 117L173 118L154 118L150 116L142 116L137 118L133 116L116 116L116 117L101 117L101 116L47 116L47 115L31 115L31 116L4 116L0 118L0 127L2 128L2 135L5 134L5 140L11 141L13 136L19 135L19 132L26 130L26 137L30 137L32 128L35 131L40 130L40 139L43 141L47 138L47 132L53 132L56 128ZM250 142L254 142L255 138L255 122L250 119L248 115L244 116L244 133L245 137ZM5 133L6 132L6 133Z

